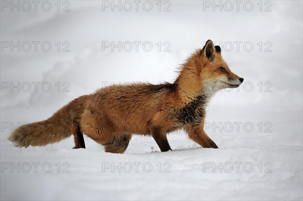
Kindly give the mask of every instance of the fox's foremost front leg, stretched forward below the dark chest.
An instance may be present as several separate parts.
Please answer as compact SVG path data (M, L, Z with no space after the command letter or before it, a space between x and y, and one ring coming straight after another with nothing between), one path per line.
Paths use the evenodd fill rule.
M214 143L214 141L212 141L204 131L203 124L188 126L185 130L188 137L203 148L219 149L216 143Z

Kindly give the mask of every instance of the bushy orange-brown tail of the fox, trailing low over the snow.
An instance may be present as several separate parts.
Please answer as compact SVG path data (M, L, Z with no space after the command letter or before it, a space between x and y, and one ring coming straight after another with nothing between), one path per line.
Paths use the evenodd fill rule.
M9 140L17 147L44 146L59 142L72 135L73 120L80 116L84 96L75 99L57 111L52 117L15 129Z

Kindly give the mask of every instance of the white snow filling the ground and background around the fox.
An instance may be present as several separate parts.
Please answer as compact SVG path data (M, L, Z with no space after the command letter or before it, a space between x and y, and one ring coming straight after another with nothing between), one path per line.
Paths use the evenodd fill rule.
M159 12L157 2L150 12L103 11L101 1L69 1L70 12L57 12L56 2L50 12L3 8L1 41L49 41L52 50L1 51L1 199L302 200L302 2L272 1L271 12L260 12L258 2L251 12L237 12L235 3L231 12L203 11L206 2L170 1L171 12ZM72 137L26 149L7 140L18 123L43 120L100 87L172 82L178 66L208 39L221 42L230 69L244 78L207 108L205 130L220 149L201 148L182 130L168 135L173 151L166 153L141 136L125 154L105 153L86 136L86 149L77 150ZM58 52L58 41L61 48L69 42L70 51ZM133 49L103 50L104 41L129 41ZM134 41L141 42L138 51ZM153 44L149 52L142 48L146 41ZM20 92L10 89L18 82ZM39 82L36 91L33 82ZM46 82L49 92L41 88Z

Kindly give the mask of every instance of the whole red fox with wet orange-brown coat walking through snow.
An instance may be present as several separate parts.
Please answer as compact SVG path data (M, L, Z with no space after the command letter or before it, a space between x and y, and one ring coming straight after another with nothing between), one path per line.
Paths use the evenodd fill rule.
M17 147L44 146L74 136L85 148L83 133L124 153L133 134L151 136L160 150L171 150L167 133L183 128L204 148L218 148L204 131L206 106L216 91L236 88L243 78L233 74L221 48L208 40L187 58L174 83L113 85L71 101L44 121L20 126L9 140Z

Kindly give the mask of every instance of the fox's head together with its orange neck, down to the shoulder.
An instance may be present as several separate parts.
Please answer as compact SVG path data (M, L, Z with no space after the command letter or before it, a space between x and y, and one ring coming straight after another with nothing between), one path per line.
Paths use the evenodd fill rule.
M244 81L232 73L221 56L221 48L208 40L202 49L196 50L183 63L175 81L185 102L193 97L207 96L226 88L237 88Z

